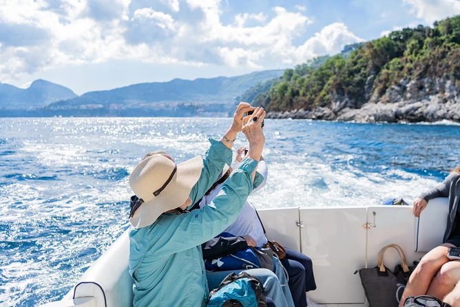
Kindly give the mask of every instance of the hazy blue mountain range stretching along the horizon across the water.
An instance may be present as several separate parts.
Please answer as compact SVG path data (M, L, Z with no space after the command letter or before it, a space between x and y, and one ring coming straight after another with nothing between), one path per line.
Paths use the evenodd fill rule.
M193 81L177 78L81 96L41 80L28 89L0 83L0 116L227 116L247 89L280 78L283 72L266 70Z

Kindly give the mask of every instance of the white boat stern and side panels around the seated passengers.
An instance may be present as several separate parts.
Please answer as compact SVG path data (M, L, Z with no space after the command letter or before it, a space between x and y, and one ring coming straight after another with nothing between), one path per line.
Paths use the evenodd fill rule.
M399 244L408 264L441 244L446 229L448 198L436 198L415 218L412 206L357 204L353 207L262 209L260 218L272 240L309 255L317 290L308 293L327 307L366 307L368 301L357 272L377 265L386 244ZM87 269L63 299L43 307L129 307L133 282L128 273L129 229ZM394 268L396 251L385 253Z

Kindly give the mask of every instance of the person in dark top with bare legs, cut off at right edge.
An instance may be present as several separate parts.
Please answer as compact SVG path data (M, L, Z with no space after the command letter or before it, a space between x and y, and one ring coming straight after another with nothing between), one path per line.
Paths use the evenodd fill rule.
M450 247L460 247L460 166L434 189L414 201L414 214L419 216L433 198L449 198L447 227L443 244L433 248L421 258L410 275L399 306L404 306L408 296L432 295L443 299L460 280L460 261L451 261L447 254Z

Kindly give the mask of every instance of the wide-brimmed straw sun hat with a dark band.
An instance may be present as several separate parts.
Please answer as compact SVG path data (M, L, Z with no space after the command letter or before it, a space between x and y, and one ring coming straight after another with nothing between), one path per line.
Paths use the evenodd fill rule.
M129 176L129 186L140 198L129 215L134 228L149 226L162 213L183 204L200 178L202 165L199 156L176 165L161 154L136 165Z

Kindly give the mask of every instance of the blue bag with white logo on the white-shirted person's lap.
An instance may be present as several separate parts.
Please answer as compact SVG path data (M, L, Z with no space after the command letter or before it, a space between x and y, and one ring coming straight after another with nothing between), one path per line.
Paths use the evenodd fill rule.
M233 237L231 233L220 233L221 237ZM244 248L213 260L205 260L206 271L232 271L260 268L260 262L252 248Z

